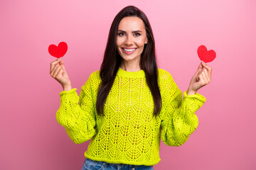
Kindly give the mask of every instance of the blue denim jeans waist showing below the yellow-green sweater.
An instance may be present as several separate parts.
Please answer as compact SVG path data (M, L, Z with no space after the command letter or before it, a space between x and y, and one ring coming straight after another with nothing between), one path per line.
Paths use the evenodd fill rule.
M131 164L109 164L92 159L85 159L82 170L154 170L153 166L131 165Z

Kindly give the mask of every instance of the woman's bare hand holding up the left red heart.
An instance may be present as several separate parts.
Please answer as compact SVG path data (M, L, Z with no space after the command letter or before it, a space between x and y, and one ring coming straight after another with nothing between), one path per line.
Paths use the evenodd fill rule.
M63 90L69 91L72 89L71 81L65 70L62 58L50 63L50 76L63 86Z

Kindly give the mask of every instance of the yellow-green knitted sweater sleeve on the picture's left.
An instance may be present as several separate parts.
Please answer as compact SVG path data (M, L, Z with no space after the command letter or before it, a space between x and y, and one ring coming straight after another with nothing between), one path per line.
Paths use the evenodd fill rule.
M90 140L96 133L91 79L92 74L82 86L79 97L77 89L60 92L60 108L56 113L56 119L76 144Z

